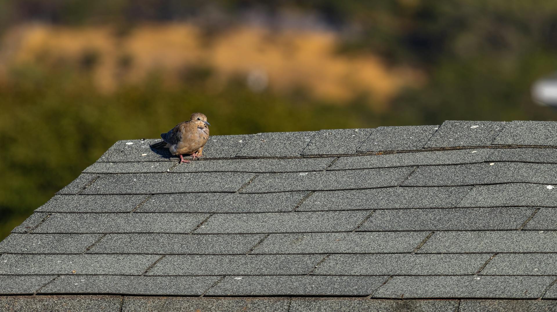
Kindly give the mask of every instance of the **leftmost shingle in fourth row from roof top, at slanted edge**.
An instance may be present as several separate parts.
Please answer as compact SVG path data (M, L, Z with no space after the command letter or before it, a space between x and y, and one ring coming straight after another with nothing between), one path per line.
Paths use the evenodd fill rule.
M146 195L55 195L35 211L130 212Z

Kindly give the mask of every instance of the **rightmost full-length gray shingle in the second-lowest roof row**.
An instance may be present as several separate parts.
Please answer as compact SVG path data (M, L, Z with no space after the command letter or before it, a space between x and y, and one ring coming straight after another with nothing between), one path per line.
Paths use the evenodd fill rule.
M550 276L394 276L378 298L539 298Z

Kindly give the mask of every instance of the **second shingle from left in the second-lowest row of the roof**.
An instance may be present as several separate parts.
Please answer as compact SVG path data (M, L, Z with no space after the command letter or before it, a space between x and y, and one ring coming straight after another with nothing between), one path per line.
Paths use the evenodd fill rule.
M201 295L219 276L62 275L41 294Z

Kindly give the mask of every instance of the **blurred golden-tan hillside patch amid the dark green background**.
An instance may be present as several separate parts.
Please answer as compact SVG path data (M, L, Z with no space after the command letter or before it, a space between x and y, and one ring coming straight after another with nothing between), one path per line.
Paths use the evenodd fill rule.
M389 68L373 55L343 56L333 32L270 31L236 27L204 34L188 23L148 24L125 34L115 28L26 24L4 33L0 75L13 66L51 66L91 71L94 85L110 93L152 73L172 88L181 77L205 72L208 91L240 79L255 92L304 90L333 102L369 94L380 109L404 86L422 85L410 68Z

